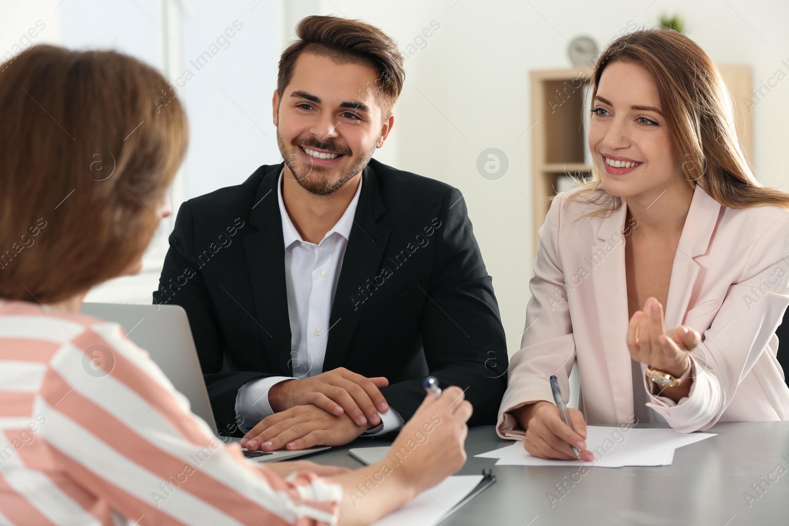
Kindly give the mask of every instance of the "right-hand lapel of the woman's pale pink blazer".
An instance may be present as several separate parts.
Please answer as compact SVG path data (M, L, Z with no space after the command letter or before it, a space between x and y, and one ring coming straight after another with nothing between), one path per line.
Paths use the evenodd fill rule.
M671 267L664 318L667 329L682 324L699 271L694 258L707 252L712 232L718 224L720 208L720 203L696 185Z

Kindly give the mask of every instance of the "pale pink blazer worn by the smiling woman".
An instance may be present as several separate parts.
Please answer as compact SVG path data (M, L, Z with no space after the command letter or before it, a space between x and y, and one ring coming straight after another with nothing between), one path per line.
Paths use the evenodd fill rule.
M575 221L589 205L565 207L567 195L553 201L540 228L522 349L510 360L499 408L503 438L524 436L511 409L553 401L551 375L567 396L575 359L588 423L626 423L634 414L623 233L638 226L625 224L625 200L608 218ZM696 187L665 305L667 329L684 323L701 334L696 376L679 404L647 404L677 431L719 420L789 420L775 334L789 304L787 256L789 211L722 207Z

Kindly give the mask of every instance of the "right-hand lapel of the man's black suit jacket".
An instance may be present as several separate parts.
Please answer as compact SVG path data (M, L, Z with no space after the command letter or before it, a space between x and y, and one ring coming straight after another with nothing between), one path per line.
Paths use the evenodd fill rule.
M331 305L323 371L341 367L345 362L361 313L365 310L366 302L358 301L360 297L364 298L361 290L378 274L391 233L390 229L376 222L386 211L378 175L368 165L362 177L361 195Z

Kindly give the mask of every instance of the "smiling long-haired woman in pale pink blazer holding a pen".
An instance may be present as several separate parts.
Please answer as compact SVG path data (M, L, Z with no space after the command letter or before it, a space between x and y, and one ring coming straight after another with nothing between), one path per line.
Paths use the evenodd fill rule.
M592 96L593 179L540 228L499 436L592 460L586 422L789 420L789 195L750 172L716 66L678 32L634 32L600 55ZM567 396L574 360L570 428L548 379Z

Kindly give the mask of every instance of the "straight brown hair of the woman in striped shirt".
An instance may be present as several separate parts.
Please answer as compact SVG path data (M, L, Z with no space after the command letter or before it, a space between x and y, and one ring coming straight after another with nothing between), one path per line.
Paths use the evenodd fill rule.
M0 73L0 297L64 300L140 256L188 140L165 92L114 51L36 46Z

